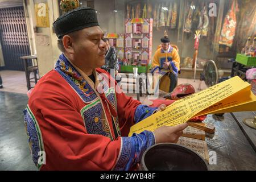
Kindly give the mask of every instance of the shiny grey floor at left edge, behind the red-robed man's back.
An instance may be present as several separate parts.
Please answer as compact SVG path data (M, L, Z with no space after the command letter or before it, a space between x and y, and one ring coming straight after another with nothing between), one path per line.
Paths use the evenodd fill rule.
M0 171L36 170L23 123L27 95L0 92Z

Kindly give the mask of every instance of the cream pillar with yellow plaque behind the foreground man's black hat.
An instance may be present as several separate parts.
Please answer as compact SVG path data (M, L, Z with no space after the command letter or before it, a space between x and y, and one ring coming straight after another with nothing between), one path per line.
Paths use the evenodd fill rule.
M48 6L49 27L36 27L34 3L45 3ZM26 11L29 19L28 27L34 30L34 35L32 31L29 35L31 44L35 43L35 50L32 46L32 53L38 56L39 75L42 77L54 68L61 53L57 48L57 36L52 26L52 23L59 17L59 5L56 0L26 0Z

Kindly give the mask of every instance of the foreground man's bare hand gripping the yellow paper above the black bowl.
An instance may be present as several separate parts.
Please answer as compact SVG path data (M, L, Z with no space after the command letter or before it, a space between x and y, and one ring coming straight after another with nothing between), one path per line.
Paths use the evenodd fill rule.
M188 123L177 126L161 126L154 131L155 143L177 143Z

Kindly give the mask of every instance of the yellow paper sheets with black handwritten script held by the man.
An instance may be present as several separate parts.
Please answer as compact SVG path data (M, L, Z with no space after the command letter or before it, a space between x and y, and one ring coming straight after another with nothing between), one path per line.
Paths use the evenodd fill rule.
M218 111L256 110L256 97L251 85L236 76L201 92L182 98L131 127L129 136L144 130L154 131L160 126L175 126L196 115ZM250 108L248 108L250 107Z

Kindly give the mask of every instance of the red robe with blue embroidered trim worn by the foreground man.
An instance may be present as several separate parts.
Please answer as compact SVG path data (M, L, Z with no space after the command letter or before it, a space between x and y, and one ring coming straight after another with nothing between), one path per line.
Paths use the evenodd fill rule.
M94 70L95 85L80 73L62 54L31 93L24 123L35 165L42 170L133 168L155 138L151 131L127 134L157 107L127 97L102 69Z

